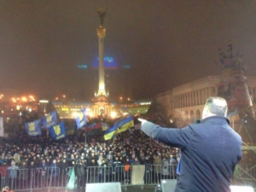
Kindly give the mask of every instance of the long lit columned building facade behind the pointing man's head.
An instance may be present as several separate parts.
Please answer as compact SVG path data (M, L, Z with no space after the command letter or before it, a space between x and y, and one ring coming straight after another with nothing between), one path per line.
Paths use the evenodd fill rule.
M201 113L209 96L218 95L219 76L208 76L183 84L157 95L159 110L170 117L177 127L183 127L201 119ZM253 103L256 101L256 78L248 77L247 84ZM255 107L255 104L254 104Z

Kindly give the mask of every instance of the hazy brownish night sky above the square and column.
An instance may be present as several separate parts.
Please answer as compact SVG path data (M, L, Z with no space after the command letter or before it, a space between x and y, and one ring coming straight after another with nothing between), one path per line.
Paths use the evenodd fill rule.
M226 50L230 39L234 54L244 55L247 76L256 76L253 0L1 0L0 92L94 96L97 71L78 65L90 66L98 56L98 8L108 9L105 55L119 65L109 71L112 98L154 97L220 75L218 48Z

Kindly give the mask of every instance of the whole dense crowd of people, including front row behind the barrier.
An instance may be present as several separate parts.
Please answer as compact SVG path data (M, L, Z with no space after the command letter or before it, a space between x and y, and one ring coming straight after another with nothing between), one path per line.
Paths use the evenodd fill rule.
M9 177L8 183L30 179L30 172L18 170L41 168L47 172L47 167L59 167L54 174L75 167L81 186L85 183L85 167L90 166L159 165L167 178L171 175L167 167L178 160L177 148L167 147L137 130L125 131L109 141L104 140L103 132L85 141L83 130L60 141L53 140L45 130L37 137L28 136L22 129L16 135L12 140L3 138L0 145L0 173Z

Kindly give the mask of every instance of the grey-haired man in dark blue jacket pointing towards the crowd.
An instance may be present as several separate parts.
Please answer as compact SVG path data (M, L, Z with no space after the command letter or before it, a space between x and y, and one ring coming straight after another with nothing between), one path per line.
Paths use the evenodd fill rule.
M226 118L227 102L207 99L200 123L166 129L144 119L141 130L149 137L181 148L181 170L175 192L230 191L231 177L241 159L241 137Z

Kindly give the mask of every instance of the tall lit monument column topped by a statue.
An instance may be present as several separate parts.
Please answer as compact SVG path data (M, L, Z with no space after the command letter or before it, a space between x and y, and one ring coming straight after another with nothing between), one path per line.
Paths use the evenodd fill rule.
M100 26L97 28L97 36L99 38L99 90L95 93L92 112L95 117L108 118L111 113L111 103L108 101L108 94L105 90L104 38L106 29L103 27L106 10L98 9L97 13L101 19Z

